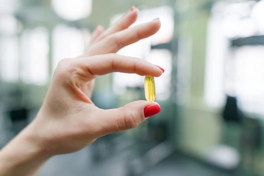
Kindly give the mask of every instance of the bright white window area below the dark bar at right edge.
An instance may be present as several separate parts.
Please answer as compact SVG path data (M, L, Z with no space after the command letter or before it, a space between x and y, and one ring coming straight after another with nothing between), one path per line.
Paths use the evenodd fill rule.
M234 50L234 88L242 109L264 114L264 47L244 46Z

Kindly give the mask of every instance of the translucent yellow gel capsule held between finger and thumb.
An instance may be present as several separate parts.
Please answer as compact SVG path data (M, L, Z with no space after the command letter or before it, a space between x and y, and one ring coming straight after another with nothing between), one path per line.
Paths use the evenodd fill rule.
M146 100L149 102L155 102L156 101L155 83L154 83L154 77L153 76L146 76L145 77L145 97L146 97Z

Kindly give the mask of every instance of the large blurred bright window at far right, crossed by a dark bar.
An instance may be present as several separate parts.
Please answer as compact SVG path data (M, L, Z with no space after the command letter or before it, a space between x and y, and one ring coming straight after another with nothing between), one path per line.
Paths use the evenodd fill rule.
M262 86L258 75L262 72L258 67L262 63L259 57L263 56L264 50L259 49L260 46L233 48L230 41L264 34L263 5L262 0L238 3L222 1L213 6L208 23L205 75L205 102L210 107L222 107L225 94L240 100L245 100L246 96L248 101L255 97L254 94L262 97L262 93L256 89Z

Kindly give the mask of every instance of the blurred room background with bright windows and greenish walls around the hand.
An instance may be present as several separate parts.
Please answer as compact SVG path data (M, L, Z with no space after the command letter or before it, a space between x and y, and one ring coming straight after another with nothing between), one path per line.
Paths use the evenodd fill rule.
M264 175L264 1L1 0L0 148L34 119L58 61L131 6L160 31L118 53L160 65L162 111L51 158L39 175ZM134 25L133 25L134 26ZM99 76L103 109L144 100L144 77Z

